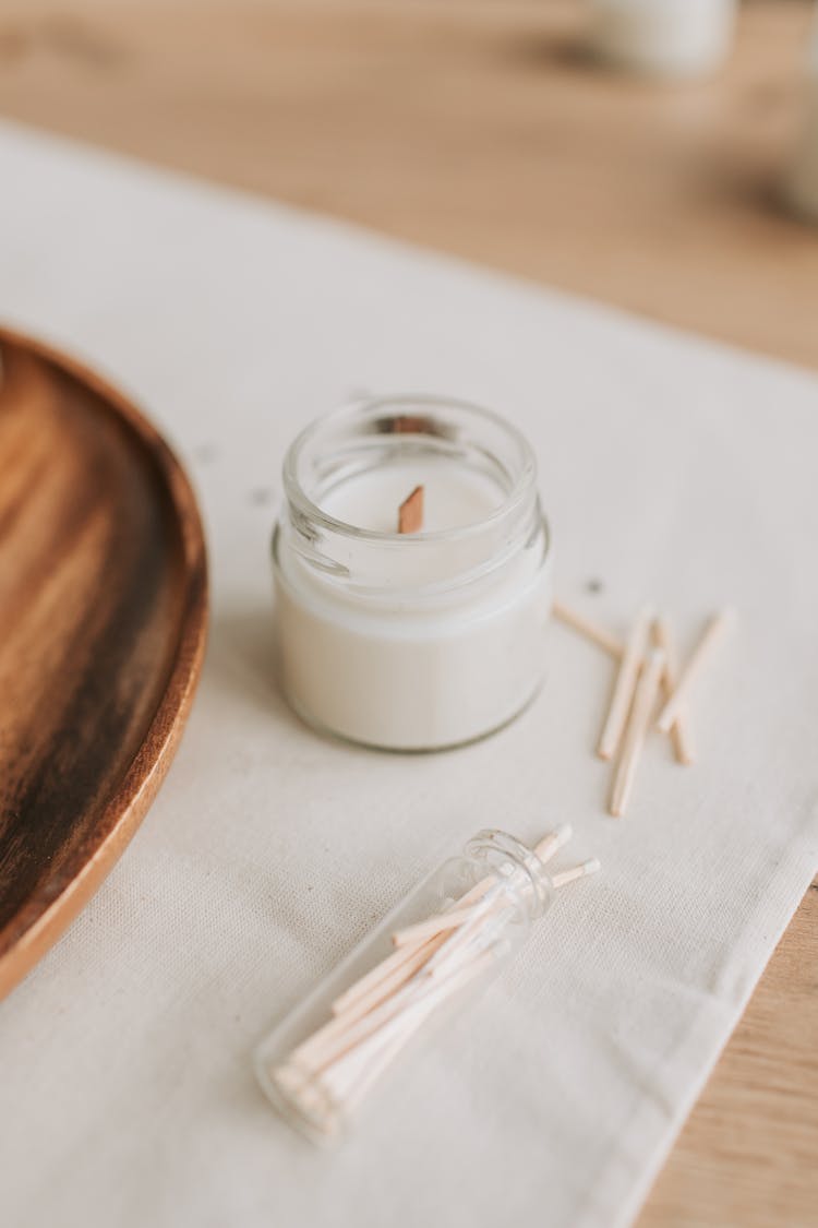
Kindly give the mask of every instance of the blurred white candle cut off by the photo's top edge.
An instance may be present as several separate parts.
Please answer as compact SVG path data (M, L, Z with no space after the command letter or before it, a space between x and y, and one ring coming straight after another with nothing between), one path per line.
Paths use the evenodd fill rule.
M733 37L736 0L592 0L590 44L621 68L657 76L716 69Z

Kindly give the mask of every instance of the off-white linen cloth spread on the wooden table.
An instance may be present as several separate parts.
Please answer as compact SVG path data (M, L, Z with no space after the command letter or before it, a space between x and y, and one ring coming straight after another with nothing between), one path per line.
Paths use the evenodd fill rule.
M156 804L0 1006L0 1222L627 1224L818 863L818 381L11 125L0 184L0 311L175 441L213 605ZM354 749L282 704L281 459L359 389L509 414L558 589L612 629L651 598L688 651L737 608L695 695L697 764L655 737L627 819L592 753L612 662L560 626L535 705L467 749ZM341 1149L292 1135L251 1074L266 1028L475 830L564 820L602 874Z

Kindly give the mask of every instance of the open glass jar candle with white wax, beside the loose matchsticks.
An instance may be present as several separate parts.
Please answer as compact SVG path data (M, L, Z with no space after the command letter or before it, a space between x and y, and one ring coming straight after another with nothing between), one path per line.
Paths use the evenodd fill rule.
M543 673L552 555L525 438L421 397L337 410L283 467L273 534L281 677L310 725L430 750L505 725ZM424 490L424 522L399 533Z

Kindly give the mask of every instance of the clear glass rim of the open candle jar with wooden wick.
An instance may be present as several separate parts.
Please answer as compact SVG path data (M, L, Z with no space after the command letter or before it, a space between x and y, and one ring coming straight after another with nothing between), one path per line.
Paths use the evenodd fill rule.
M457 528L434 529L432 532L421 530L419 533L397 533L396 530L386 532L383 529L367 529L361 528L357 524L350 524L347 521L330 516L309 497L302 486L298 476L298 469L304 449L315 438L315 436L319 435L321 430L334 422L342 421L345 418L354 418L356 415L368 410L394 409L397 411L401 405L427 406L429 410L437 408L440 411L445 411L446 409L466 411L475 419L491 424L491 426L506 435L506 437L519 449L520 469L510 491L503 499L503 502L494 508L494 511L481 517L480 519L472 521L470 524L464 524ZM365 400L357 402L353 405L345 405L341 409L330 410L327 414L323 414L320 418L314 419L308 426L304 427L303 431L300 431L299 435L296 436L287 449L282 473L285 494L291 507L323 528L329 529L332 533L353 537L357 540L363 539L379 543L400 542L402 546L417 549L417 546L421 546L424 543L457 542L475 537L480 533L484 533L486 529L491 529L510 513L514 513L520 505L525 502L526 497L529 497L532 491L536 491L537 460L525 435L522 435L516 426L509 422L508 419L503 418L502 414L495 413L493 409L486 409L483 405L477 405L468 400L460 400L454 397L435 397L426 393L402 393L391 394L389 397L367 398Z

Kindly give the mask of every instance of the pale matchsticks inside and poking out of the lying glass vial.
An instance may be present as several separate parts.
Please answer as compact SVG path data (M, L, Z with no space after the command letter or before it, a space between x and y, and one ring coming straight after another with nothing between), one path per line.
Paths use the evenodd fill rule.
M570 826L533 849L545 866ZM596 858L548 877L565 887L598 871ZM511 861L495 867L443 912L399 930L392 952L331 1003L331 1018L269 1071L300 1122L331 1137L426 1020L510 950L509 925L533 890Z

